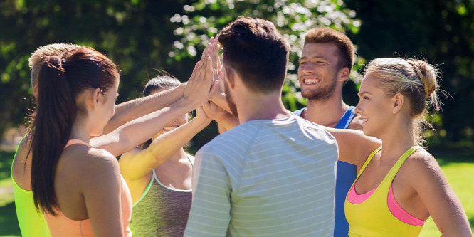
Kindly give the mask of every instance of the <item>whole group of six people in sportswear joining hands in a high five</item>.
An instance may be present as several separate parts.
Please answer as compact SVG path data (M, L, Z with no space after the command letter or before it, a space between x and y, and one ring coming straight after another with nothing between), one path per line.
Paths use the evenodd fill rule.
M290 112L289 51L270 21L239 18L211 38L186 83L158 76L143 98L115 105L120 73L109 58L38 48L36 107L11 169L22 235L418 236L432 216L443 236L471 236L422 147L438 69L376 58L349 106L354 46L313 28L298 68L307 107ZM186 153L211 120L221 135Z

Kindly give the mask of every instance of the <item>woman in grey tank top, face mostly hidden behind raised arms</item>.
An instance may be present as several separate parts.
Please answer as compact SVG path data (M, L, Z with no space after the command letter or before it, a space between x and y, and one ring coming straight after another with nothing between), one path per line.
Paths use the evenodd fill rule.
M181 83L167 75L149 80L144 96L170 90ZM194 157L183 146L209 125L202 108L188 122L188 114L169 122L162 131L122 154L120 172L132 194L133 236L183 236L191 209Z

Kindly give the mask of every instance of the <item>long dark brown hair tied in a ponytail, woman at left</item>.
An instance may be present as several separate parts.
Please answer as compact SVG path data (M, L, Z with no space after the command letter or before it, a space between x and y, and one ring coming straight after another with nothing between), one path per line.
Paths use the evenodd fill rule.
M56 165L68 142L73 122L86 113L75 98L88 88L117 83L117 67L98 51L80 48L45 60L38 73L38 102L28 135L31 152L31 187L36 209L56 215Z

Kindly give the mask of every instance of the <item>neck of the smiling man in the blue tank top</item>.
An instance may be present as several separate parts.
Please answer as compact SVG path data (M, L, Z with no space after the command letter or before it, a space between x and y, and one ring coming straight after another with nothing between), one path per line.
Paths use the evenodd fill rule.
M342 101L342 95L335 92L325 101L307 100L307 108L301 117L318 125L334 127L348 108L349 105Z

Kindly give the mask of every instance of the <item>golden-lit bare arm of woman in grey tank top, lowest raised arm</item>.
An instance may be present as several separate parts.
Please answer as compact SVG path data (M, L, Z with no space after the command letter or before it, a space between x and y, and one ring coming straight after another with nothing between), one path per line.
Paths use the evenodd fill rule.
M142 178L152 169L166 162L194 135L209 125L209 122L211 120L201 108L198 108L194 120L157 137L147 149L142 151L133 150L123 154L120 157L120 172L127 181Z

